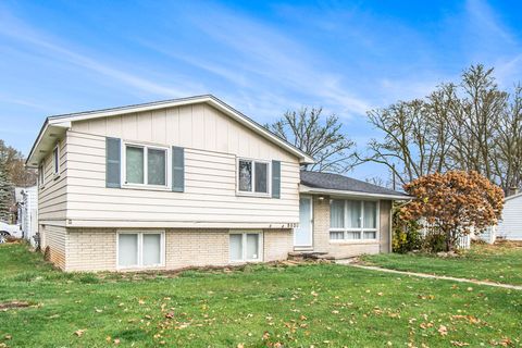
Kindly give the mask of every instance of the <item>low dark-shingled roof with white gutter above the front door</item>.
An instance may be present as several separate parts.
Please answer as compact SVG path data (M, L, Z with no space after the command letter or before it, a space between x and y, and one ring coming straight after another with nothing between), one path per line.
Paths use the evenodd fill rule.
M412 198L403 192L332 173L301 171L301 185L303 186L302 192L311 194L339 194L402 200Z

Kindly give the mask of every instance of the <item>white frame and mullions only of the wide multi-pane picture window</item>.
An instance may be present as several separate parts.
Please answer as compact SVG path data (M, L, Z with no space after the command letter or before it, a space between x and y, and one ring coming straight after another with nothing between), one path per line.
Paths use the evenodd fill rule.
M333 228L332 225L328 231L328 239L331 243L369 243L369 241L378 241L380 240L380 231L381 231L381 201L380 200L372 200L372 199L350 199L350 198L335 198L332 197L330 202L330 209L332 209L332 200L343 200L344 202L344 224L343 228ZM348 204L347 201L356 201L361 204L361 215L359 220L361 222L361 227L346 227L348 222ZM375 202L375 228L365 228L364 227L364 202ZM330 222L332 224L332 220ZM332 239L331 232L343 232L343 239ZM347 234L348 232L359 232L359 239L348 239ZM375 238L364 238L364 232L375 232Z

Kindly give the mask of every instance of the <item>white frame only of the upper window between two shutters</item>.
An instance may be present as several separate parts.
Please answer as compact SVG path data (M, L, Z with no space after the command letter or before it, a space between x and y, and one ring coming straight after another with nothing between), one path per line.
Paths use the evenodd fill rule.
M144 184L127 183L127 146L135 148L144 149ZM165 151L165 185L150 185L147 184L149 181L149 169L148 169L148 156L149 149L151 150L163 150ZM140 188L140 189L158 189L158 190L171 190L172 189L172 153L171 148L161 145L152 145L145 142L135 142L135 141L122 141L122 170L121 170L121 182L122 187L124 188Z

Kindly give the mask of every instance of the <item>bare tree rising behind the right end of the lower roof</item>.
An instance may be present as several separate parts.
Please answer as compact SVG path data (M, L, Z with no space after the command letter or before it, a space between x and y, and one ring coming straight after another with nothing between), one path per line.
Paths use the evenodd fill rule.
M446 167L450 139L443 126L448 101L443 91L427 100L399 101L368 113L370 123L384 133L372 139L369 153L356 153L359 163L376 162L388 167L400 184Z

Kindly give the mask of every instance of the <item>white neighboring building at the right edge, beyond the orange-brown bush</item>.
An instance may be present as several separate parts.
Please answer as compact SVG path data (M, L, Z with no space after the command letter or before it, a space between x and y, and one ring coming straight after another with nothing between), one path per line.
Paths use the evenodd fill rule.
M502 217L496 235L508 240L522 240L522 194L508 196L504 200Z

